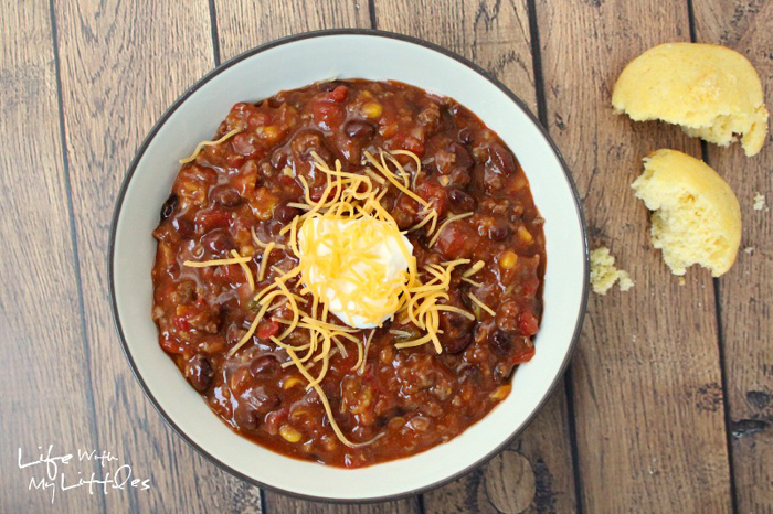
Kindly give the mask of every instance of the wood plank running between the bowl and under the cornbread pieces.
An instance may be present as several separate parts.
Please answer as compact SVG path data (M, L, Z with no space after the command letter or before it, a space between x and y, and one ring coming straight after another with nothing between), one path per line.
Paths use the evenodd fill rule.
M690 270L678 286L629 189L650 151L700 147L610 105L629 60L689 40L687 3L538 0L537 19L549 128L584 199L591 244L610 246L636 281L592 296L572 364L583 510L730 511L711 277Z

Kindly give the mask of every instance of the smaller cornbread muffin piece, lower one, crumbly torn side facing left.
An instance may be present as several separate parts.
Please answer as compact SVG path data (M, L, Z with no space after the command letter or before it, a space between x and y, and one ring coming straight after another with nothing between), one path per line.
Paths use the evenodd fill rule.
M741 244L741 207L730 186L702 161L676 150L644 159L632 184L652 215L652 240L675 275L699 264L719 277Z

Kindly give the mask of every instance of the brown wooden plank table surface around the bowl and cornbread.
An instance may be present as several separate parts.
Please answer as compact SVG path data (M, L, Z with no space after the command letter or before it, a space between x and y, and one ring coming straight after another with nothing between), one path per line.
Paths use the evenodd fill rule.
M745 158L610 107L629 60L697 41L748 56L770 108L772 0L4 0L0 23L0 512L773 512L773 215L752 208L758 192L773 204L771 138ZM342 26L435 42L510 87L563 152L591 245L636 282L592 296L563 383L507 450L438 490L360 506L261 491L202 459L142 395L107 291L114 201L161 113L241 52ZM665 147L702 157L739 197L753 250L720 279L691 269L680 286L649 243L629 184ZM82 486L52 504L30 490L44 464L22 468L49 445L109 451L150 489Z

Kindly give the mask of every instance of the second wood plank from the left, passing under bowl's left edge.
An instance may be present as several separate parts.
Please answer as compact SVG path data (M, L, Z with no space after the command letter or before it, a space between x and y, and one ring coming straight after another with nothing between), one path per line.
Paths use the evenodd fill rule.
M107 508L256 512L258 490L199 457L145 398L106 287L109 219L125 170L160 114L213 65L209 6L71 0L56 2L55 15L99 443L151 483L108 494Z

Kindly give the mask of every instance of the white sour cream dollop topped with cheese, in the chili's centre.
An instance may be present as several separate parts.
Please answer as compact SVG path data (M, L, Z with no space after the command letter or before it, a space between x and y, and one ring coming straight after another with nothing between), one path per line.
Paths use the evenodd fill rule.
M317 263L325 257L329 257L331 263L346 263L346 266L340 267L311 265L304 274L304 281L307 287L318 292L331 313L354 329L380 326L392 318L394 312L374 314L373 306L383 310L390 300L400 295L400 286L407 279L409 261L401 244L410 255L413 253L413 245L403 234L380 229L382 227L377 226L378 224L386 222L374 218L349 221L313 217L304 222L298 231L301 263L311 244L316 247ZM336 251L332 246L336 247ZM368 291L362 291L359 298L349 300L347 309L343 309L341 298L351 296L359 288L363 276L375 276L381 285L390 286L382 288L377 298Z

